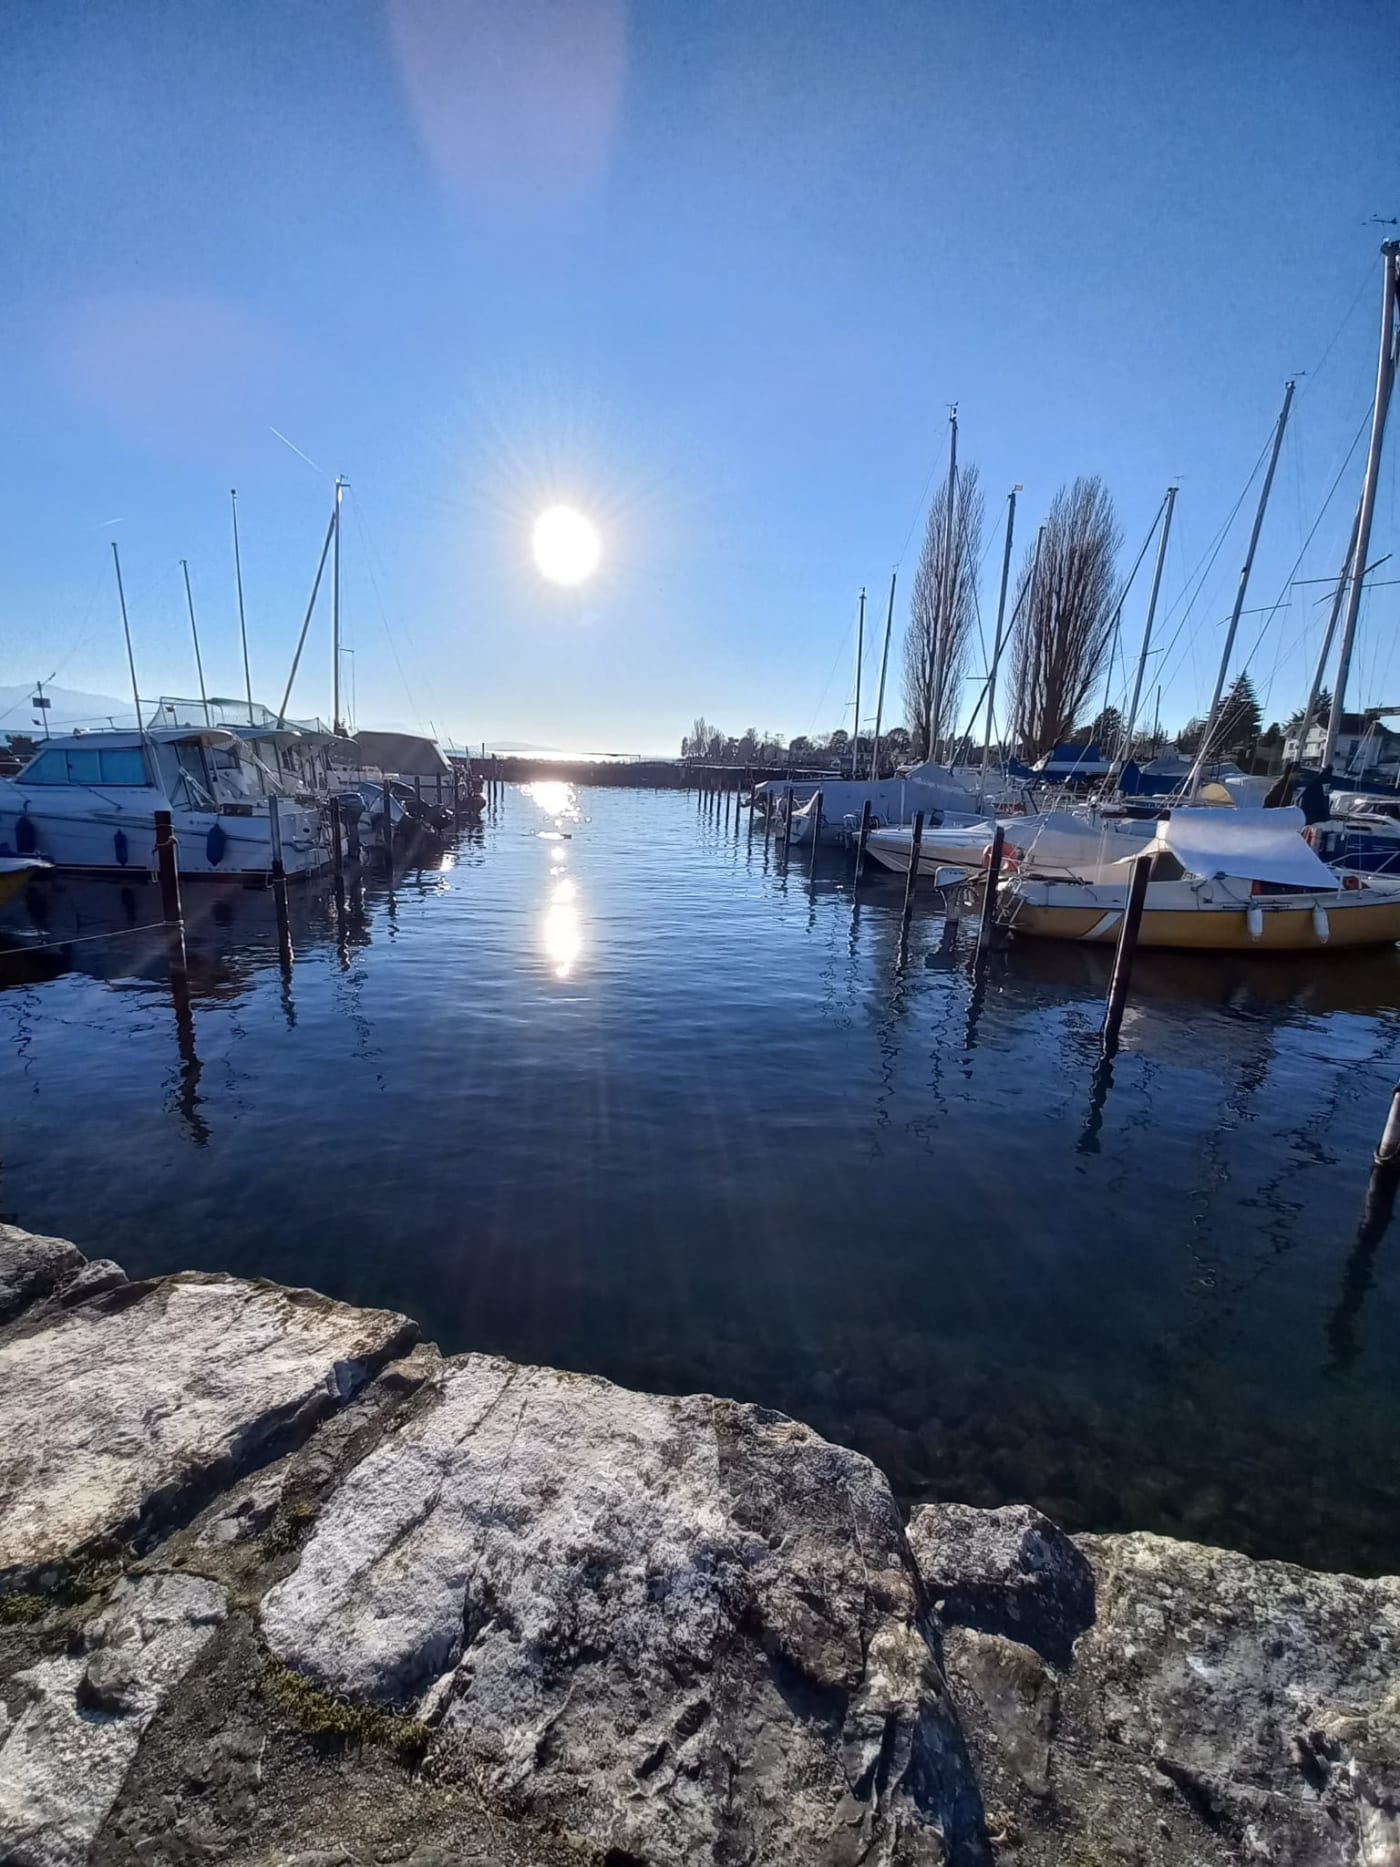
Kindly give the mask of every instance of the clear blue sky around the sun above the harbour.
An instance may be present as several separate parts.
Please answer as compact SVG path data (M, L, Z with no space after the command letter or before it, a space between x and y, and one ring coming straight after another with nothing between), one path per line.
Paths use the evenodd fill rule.
M142 689L192 691L185 556L237 691L237 485L276 704L340 470L362 724L629 751L696 711L849 726L855 596L883 616L900 562L903 624L948 401L991 530L1014 482L1029 540L1099 472L1127 568L1180 478L1165 640L1284 379L1251 607L1370 401L1366 222L1400 213L1379 0L49 0L0 32L0 683L125 691L116 538ZM1359 472L1295 575L1335 573ZM1372 556L1398 484L1391 454ZM530 564L556 498L603 534L581 590ZM1247 517L1154 668L1172 724ZM1320 594L1253 655L1266 717L1301 700ZM1366 597L1357 700L1400 698L1396 596ZM323 611L293 711L329 698Z

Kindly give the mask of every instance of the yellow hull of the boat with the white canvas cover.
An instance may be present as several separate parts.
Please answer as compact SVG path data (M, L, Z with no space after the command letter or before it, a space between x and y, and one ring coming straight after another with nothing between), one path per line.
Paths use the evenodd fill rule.
M1260 930L1251 934L1247 907L1148 907L1137 935L1139 947L1197 948L1208 952L1329 952L1333 948L1391 947L1400 941L1400 896L1376 902L1323 904L1327 939L1318 937L1314 904L1271 907L1260 904ZM1010 926L1027 939L1066 939L1111 947L1118 941L1122 907L1040 905L1019 900Z

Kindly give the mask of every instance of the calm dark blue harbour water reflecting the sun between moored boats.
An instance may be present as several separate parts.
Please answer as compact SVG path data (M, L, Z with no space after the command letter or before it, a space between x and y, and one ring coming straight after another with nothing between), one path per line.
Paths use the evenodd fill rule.
M271 896L190 885L189 1008L151 934L0 956L0 1214L780 1408L905 1497L1400 1570L1400 1234L1363 1227L1400 954L1144 956L1105 1085L1107 956L976 984L931 905L900 963L900 902L562 788L343 926L295 891L289 978Z

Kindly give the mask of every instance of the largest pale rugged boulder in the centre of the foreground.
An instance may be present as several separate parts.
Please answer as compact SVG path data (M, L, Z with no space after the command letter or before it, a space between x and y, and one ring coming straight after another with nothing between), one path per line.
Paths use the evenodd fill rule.
M777 1413L446 1361L261 1624L618 1863L989 1860L889 1486Z

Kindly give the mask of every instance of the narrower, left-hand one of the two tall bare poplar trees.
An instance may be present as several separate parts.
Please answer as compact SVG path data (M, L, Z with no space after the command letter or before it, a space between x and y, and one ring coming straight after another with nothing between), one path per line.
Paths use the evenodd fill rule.
M946 581L943 564L948 541L946 478L928 508L924 549L918 554L909 597L909 625L903 631L903 708L920 756L928 756L930 719L937 717L939 737L946 737L956 726L967 667L967 635L976 607L974 581L982 562L984 508L976 467L959 467Z

